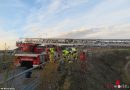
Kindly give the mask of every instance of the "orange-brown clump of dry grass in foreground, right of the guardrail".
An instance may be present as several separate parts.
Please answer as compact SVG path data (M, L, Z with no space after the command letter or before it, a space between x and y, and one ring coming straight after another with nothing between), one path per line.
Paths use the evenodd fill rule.
M58 86L58 64L48 63L41 73L41 84L38 90L56 90Z

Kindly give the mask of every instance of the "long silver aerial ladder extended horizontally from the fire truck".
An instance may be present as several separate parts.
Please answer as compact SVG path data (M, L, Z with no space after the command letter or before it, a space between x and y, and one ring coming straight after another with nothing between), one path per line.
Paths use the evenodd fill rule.
M45 45L79 45L89 47L130 47L130 39L64 39L64 38L23 38L17 43L35 43Z

